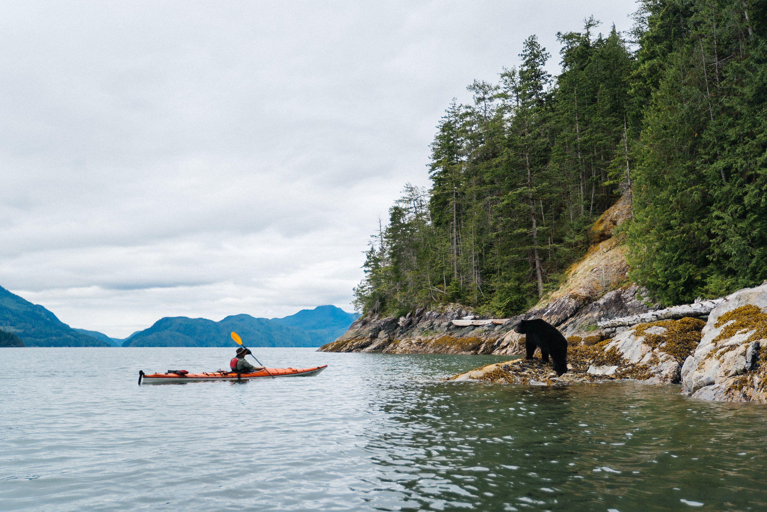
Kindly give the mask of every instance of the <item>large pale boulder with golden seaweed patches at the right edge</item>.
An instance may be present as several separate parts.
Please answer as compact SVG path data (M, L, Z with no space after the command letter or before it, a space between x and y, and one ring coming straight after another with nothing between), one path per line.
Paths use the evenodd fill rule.
M682 392L694 398L767 402L767 281L714 308L682 379Z

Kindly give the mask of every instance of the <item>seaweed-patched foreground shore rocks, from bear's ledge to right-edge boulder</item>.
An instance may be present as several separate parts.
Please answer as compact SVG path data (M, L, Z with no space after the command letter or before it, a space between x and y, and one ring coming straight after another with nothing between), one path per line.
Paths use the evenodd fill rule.
M635 379L682 384L697 399L767 403L767 281L719 300L708 320L639 323L612 339L568 338L561 377L539 357L469 370L452 380L565 385Z

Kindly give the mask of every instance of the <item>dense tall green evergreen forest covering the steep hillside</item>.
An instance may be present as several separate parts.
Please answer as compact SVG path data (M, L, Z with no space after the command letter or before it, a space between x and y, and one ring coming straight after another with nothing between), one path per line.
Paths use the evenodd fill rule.
M626 279L660 303L767 278L767 7L643 0L634 20L630 34L601 34L593 18L558 34L557 77L532 35L517 67L449 105L432 188L405 185L372 237L359 310L526 310L559 287L623 194Z

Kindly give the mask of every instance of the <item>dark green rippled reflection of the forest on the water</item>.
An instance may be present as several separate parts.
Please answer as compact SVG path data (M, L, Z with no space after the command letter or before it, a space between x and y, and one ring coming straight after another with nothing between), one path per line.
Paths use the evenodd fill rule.
M368 449L414 509L767 507L761 407L635 383L392 391Z

